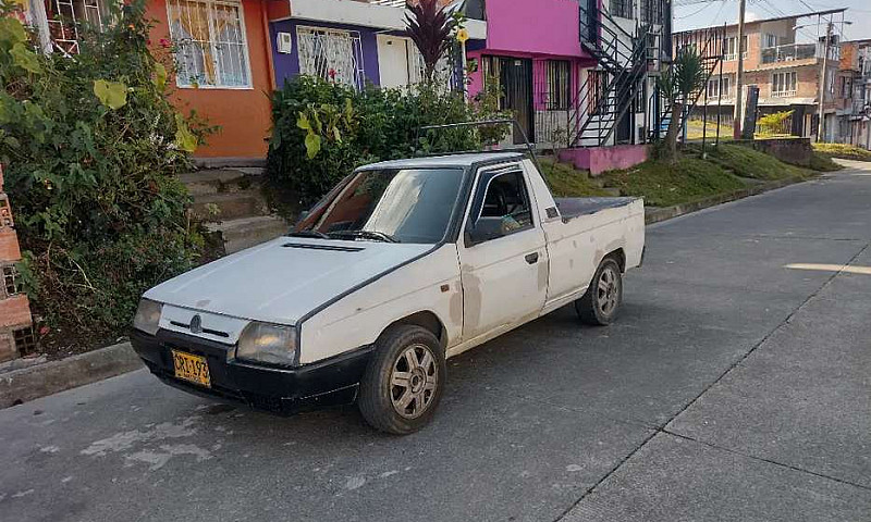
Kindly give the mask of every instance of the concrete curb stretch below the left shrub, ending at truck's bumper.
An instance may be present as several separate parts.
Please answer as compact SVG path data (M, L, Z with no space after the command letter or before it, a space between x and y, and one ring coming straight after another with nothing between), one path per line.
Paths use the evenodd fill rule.
M143 368L130 343L0 374L0 409Z

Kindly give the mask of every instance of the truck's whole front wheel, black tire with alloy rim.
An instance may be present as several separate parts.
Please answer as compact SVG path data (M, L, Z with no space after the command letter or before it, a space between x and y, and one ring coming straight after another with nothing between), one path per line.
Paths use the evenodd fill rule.
M447 365L439 339L415 325L388 328L360 381L357 406L369 425L407 435L426 426L444 390Z

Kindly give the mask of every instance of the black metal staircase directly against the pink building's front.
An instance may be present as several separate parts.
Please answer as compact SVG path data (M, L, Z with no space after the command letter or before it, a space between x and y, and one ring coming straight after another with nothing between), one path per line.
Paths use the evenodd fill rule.
M573 99L568 145L600 147L608 144L635 104L639 82L645 79L651 55L657 52L650 40L653 36L655 41L658 32L645 25L636 27L631 35L594 4L585 7L579 2L579 10L580 44L599 65L587 75Z

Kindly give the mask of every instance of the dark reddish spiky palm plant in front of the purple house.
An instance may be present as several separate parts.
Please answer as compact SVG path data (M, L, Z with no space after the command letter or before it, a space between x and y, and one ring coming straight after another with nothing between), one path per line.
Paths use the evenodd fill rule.
M431 84L436 67L442 57L451 49L451 34L456 20L439 5L438 0L417 0L408 2L405 13L405 34L415 42L424 57L424 75Z

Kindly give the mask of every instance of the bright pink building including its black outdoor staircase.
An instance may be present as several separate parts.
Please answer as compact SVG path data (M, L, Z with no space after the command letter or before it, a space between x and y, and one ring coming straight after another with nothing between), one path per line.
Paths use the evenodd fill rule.
M498 83L502 107L514 112L539 148L640 148L655 120L650 73L667 59L660 49L667 52L670 46L660 41L670 41L670 5L663 0L487 0L487 39L467 48L477 66L470 95ZM603 158L645 158L631 148L619 150ZM584 169L611 164L597 151L564 154Z

